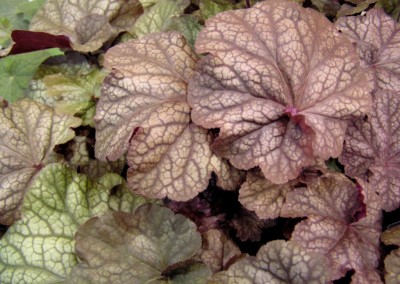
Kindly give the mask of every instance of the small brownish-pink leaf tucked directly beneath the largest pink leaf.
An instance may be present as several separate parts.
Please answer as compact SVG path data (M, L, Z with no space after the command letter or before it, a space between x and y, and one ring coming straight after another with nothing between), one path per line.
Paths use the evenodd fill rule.
M261 219L280 216L286 194L293 190L290 183L274 184L259 170L247 172L246 182L239 191L239 201L248 210L254 211Z

